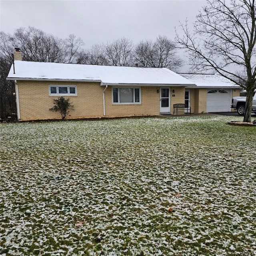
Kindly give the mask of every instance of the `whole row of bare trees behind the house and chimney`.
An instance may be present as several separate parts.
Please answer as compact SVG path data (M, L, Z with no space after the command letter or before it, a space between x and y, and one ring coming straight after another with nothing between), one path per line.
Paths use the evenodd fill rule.
M108 66L136 66L170 68L182 66L176 43L166 36L155 41L120 38L106 44L85 48L83 40L74 34L61 39L34 28L18 28L14 34L0 32L0 118L16 113L14 82L6 81L12 64L14 48L20 48L22 60Z

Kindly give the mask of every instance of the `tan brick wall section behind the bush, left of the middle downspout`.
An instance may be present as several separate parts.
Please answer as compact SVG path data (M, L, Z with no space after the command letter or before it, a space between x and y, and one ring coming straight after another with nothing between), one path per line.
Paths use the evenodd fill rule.
M61 118L59 112L49 110L53 100L59 96L49 95L49 85L76 85L77 96L70 98L74 110L66 118L86 118L103 116L103 87L99 83L17 81L21 120Z

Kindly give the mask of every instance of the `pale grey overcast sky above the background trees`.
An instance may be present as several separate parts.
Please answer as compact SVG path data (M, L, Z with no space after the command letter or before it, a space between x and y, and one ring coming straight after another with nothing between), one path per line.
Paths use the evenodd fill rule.
M179 21L187 18L192 24L205 4L206 0L0 0L0 30L13 34L17 28L33 26L62 39L75 34L85 48L122 37L136 44L158 35L174 39Z

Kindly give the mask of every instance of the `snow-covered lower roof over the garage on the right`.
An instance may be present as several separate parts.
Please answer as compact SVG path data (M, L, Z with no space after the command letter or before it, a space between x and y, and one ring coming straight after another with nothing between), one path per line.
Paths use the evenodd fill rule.
M184 78L194 82L200 88L240 88L228 78L218 74L180 74Z

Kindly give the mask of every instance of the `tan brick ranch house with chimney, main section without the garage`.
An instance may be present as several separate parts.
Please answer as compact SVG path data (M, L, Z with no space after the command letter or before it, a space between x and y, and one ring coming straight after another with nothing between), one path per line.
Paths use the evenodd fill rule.
M19 120L61 118L50 110L60 96L74 106L71 119L158 116L184 102L192 113L207 112L208 89L167 68L27 62L16 48L7 79L15 81Z

